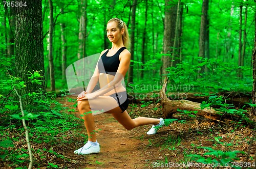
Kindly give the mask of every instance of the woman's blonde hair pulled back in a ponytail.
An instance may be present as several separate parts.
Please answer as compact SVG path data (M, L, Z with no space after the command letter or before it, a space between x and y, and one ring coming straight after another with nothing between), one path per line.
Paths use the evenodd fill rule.
M124 21L122 21L121 19L119 18L112 18L108 21L109 22L112 22L112 21L115 21L117 23L117 26L119 28L119 30L123 29L124 28L124 33L122 35L122 40L123 40L123 45L126 47L126 48L129 48L130 47L130 37L129 37L129 32L128 32L128 28L125 24Z

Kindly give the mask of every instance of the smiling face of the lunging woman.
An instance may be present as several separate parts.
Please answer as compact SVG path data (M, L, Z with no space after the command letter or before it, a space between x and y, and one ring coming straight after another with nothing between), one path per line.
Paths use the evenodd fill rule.
M122 38L124 30L119 30L117 22L112 21L106 25L106 35L110 42L117 42Z

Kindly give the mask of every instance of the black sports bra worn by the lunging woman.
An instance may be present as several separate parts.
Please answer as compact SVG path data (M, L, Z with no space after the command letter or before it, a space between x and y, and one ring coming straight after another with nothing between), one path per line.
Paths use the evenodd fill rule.
M112 57L107 57L106 54L110 49L101 55L98 61L98 69L100 73L115 75L120 64L119 55L126 47L121 47Z

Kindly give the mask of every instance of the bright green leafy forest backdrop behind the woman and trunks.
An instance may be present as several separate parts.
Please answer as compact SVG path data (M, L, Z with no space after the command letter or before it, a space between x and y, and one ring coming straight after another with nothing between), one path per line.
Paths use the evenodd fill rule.
M200 22L202 15L202 1L181 1L179 16L181 17L180 52L175 67L169 68L171 82L169 85L194 86L197 92L215 90L225 91L251 91L252 89L252 64L251 54L254 39L254 10L253 2L245 1L242 6L240 23L240 6L242 1L209 2L208 7L208 58L199 57ZM134 32L134 69L133 85L155 84L161 87L161 68L163 61L164 17L165 9L176 6L178 1L170 1L165 6L164 1L139 1L136 5L135 27L132 29L131 1L87 1L84 12L86 17L86 35L84 43L84 57L110 48L111 44L106 39L106 22L112 17L119 17L129 27L130 34ZM79 30L81 11L80 1L53 1L53 63L57 89L67 88L65 78L61 72L62 47L66 47L69 66L78 60ZM247 14L245 16L245 8ZM45 76L47 88L50 88L49 73L49 3L42 1ZM1 50L8 50L8 45L14 36L13 11L7 8L0 9L2 23ZM177 15L177 11L173 14ZM178 16L178 15L177 15ZM175 18L175 17L174 17ZM245 19L246 24L245 24ZM172 19L171 19L172 20ZM170 21L171 21L170 20ZM63 26L64 25L64 26ZM61 27L64 28L61 30ZM246 39L239 48L239 34ZM81 30L80 30L81 32ZM5 36L4 36L5 35ZM61 36L65 36L65 44ZM143 40L145 38L145 40ZM144 47L143 47L144 45ZM172 48L172 47L170 47ZM243 64L239 65L239 52L243 52ZM12 49L10 49L12 50ZM14 51L15 52L15 51ZM143 55L143 58L142 58ZM12 57L12 52L10 57ZM3 56L2 56L3 57ZM13 59L10 60L13 62ZM207 71L199 72L202 66ZM239 72L242 72L242 75ZM143 75L142 75L143 74ZM2 75L3 76L3 75ZM127 77L126 77L127 78ZM135 89L130 85L130 89ZM172 87L169 88L173 90ZM144 91L147 92L147 91ZM183 91L185 92L185 91Z

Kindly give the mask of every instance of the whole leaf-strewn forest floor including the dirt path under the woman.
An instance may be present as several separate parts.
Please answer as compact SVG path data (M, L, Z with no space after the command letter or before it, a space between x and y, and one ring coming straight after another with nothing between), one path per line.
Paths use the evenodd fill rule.
M74 104L59 100L64 106ZM131 103L127 111L132 118L140 116L162 117L159 103L152 103L145 107L141 107L141 104ZM74 114L79 117L78 111ZM208 152L208 148L212 148L223 153L243 151L245 154L237 153L239 159L235 160L237 163L233 164L246 161L250 138L253 134L253 130L248 126L240 124L219 125L202 117L191 118L180 114L174 114L173 118L184 121L183 123L175 121L169 126L160 128L157 134L147 135L146 132L152 127L151 125L126 130L111 115L96 115L97 139L100 144L98 154L75 155L73 153L74 150L84 145L84 137L79 136L79 133L86 133L83 122L76 121L74 124L81 123L81 126L77 130L70 131L65 137L66 140L70 140L68 143L52 147L51 149L56 153L49 154L44 160L40 160L40 154L35 154L34 158L40 165L38 168L54 168L53 165L57 165L56 168L82 169L200 168L198 167L200 163L196 164L195 162L196 156L191 154L203 155ZM33 149L36 150L44 146L47 147L47 145L33 145ZM255 150L256 144L253 142L248 160L252 164ZM222 159L220 153L211 157L212 159ZM189 162L193 163L194 167L185 165ZM49 163L52 164L52 167L49 166ZM232 168L231 165L233 164L229 163L229 167L226 165L225 168ZM208 168L214 167L209 166Z

